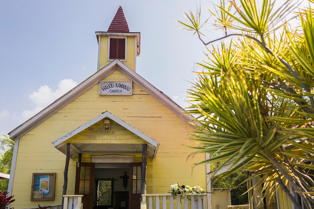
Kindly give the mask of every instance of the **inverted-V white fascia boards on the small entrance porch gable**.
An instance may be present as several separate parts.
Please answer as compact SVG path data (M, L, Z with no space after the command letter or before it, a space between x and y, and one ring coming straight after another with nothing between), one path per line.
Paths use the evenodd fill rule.
M85 123L84 125L74 129L70 133L67 133L66 135L62 136L61 138L58 138L56 141L51 142L54 147L58 146L62 142L66 141L67 139L73 137L75 134L80 133L84 129L90 127L91 125L97 123L103 118L110 118L111 120L115 121L116 123L120 124L127 130L131 131L132 133L136 134L140 138L144 139L149 144L152 144L155 148L159 146L159 143L156 142L154 139L150 138L149 136L145 135L144 133L140 132L138 129L134 128L133 126L127 124L126 122L122 121L120 118L117 118L116 116L112 115L110 112L106 111L102 113L101 115L97 116L96 118L90 120L89 122Z

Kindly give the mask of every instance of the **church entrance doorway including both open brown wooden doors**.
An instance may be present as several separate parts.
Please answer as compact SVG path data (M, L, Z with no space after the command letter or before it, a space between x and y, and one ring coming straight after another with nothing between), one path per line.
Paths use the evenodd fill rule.
M83 209L140 209L141 162L78 163L75 194Z

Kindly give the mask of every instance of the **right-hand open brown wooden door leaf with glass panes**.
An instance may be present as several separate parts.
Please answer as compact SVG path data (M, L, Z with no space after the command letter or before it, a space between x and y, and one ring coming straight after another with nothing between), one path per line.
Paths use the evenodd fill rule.
M130 163L129 209L141 208L141 165L142 162Z

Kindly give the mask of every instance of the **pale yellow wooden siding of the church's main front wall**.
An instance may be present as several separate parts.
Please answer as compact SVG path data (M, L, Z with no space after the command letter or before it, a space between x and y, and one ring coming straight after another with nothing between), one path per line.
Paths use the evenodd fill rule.
M104 80L128 80L115 71ZM99 116L111 112L134 128L160 143L154 159L148 157L147 193L167 193L169 186L178 182L200 185L206 190L205 165L192 165L205 159L205 154L188 156L195 145L188 134L193 129L173 112L133 83L132 96L100 96L99 83L47 118L19 140L12 194L16 209L61 203L65 155L51 142ZM141 161L141 155L135 155ZM78 157L70 159L67 194L74 194L75 169ZM83 154L82 162L90 162ZM56 172L55 201L30 201L32 173Z

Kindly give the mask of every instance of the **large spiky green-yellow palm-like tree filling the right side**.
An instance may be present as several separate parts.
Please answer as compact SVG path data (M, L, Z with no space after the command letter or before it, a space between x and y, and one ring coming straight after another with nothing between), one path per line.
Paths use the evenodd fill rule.
M311 208L314 181L307 171L314 169L314 20L310 7L297 6L291 1L276 7L270 0L260 6L255 0L222 1L209 10L225 36L208 42L201 29L209 21L200 23L200 9L185 13L187 23L179 22L205 45L223 41L199 64L203 72L188 91L192 104L187 112L198 122L191 138L200 143L198 153L214 154L199 163L230 164L225 175L257 166L261 169L251 178L263 176L256 188L263 183L262 190L269 191L279 185L300 208L289 182ZM291 29L286 16L301 27ZM290 152L291 146L301 155Z

